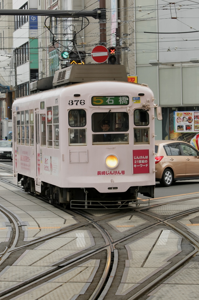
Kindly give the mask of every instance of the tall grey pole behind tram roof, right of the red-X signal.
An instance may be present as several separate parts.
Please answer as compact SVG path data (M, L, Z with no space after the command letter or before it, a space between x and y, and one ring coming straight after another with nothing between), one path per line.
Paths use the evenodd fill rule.
M128 68L128 49L129 49L129 43L128 43L128 0L124 0L124 25L123 25L123 37L124 37L124 46L123 46L123 63L126 68L126 73L129 76L129 68Z

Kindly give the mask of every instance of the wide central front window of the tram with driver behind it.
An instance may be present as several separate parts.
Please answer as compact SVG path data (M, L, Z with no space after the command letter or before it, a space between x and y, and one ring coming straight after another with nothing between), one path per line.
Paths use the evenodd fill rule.
M93 134L93 143L128 143L128 113L94 113L92 115L92 131L102 132Z

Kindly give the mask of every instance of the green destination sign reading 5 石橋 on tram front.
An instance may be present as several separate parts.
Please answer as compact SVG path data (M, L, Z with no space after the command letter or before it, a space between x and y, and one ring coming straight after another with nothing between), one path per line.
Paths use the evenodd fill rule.
M91 98L92 105L128 105L128 96L93 96Z

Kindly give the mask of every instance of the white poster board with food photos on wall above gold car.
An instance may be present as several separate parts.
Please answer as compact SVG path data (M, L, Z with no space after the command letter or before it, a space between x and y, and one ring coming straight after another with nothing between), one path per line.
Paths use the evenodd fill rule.
M174 112L174 132L199 132L199 112Z

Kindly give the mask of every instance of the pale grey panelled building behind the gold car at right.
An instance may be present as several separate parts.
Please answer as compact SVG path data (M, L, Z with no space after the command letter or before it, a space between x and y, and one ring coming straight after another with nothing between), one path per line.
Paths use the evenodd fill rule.
M193 128L176 132L174 126L174 112L199 110L197 26L198 8L192 1L135 0L138 83L149 85L163 111L156 139L190 142L197 133Z

